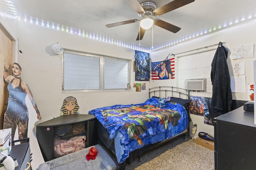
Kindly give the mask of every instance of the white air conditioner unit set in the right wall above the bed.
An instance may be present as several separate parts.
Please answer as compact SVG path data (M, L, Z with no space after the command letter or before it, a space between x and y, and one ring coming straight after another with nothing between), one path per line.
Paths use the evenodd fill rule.
M206 91L206 78L185 80L185 89Z

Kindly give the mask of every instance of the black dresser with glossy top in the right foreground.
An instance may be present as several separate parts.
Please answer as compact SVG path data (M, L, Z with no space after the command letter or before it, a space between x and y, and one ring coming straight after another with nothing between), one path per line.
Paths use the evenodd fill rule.
M214 119L215 170L256 170L254 114L242 106Z

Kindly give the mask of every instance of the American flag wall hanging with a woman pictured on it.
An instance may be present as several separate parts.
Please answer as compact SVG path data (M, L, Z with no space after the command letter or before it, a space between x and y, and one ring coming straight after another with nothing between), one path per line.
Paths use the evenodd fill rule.
M174 79L174 58L166 59L164 61L152 62L151 64L152 80L165 80L165 79Z

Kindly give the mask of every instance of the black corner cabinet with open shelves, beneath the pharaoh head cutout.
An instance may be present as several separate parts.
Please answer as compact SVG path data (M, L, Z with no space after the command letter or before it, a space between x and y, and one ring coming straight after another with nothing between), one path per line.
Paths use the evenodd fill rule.
M84 125L84 131L74 133L72 130L78 124ZM36 137L44 161L49 161L54 158L54 140L64 139L69 140L72 137L86 136L85 147L90 147L97 144L97 121L94 115L72 114L62 115L54 119L39 123L36 125ZM61 131L60 131L61 130ZM63 132L63 134L57 132Z

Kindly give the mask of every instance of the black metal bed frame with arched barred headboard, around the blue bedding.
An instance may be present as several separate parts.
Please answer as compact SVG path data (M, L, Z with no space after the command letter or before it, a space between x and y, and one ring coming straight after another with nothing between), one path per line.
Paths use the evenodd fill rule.
M176 97L176 98L182 98L182 99L190 99L190 92L189 92L189 90L182 89L182 88L159 86L159 87L154 87L154 88L149 89L149 98L151 98L151 97L159 97L159 98ZM189 106L185 107L185 109L188 113L188 117L190 117ZM99 138L99 142L103 143L107 149L110 149L115 154L114 139L109 138L108 131L103 127L103 125L101 123L98 122L97 124L98 124L98 131L101 132L98 134L106 135L106 136L101 136L101 138L103 140L101 140ZM137 149L137 150L130 152L129 157L124 162L122 162L122 164L119 164L118 170L125 170L126 163L131 164L133 158L135 158L136 156L140 156L142 153L144 153L150 149L158 147L158 146L160 146L166 142L169 142L177 137L180 137L182 135L183 135L184 139L185 139L185 136L189 137L190 136L189 131L190 130L189 130L189 126L188 126L188 129L186 129L182 133L180 133L170 139L166 139L166 140L158 142L158 143L146 145L141 149ZM102 132L104 132L104 133L102 133Z

